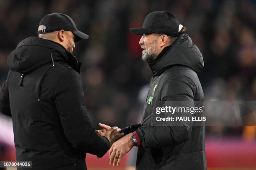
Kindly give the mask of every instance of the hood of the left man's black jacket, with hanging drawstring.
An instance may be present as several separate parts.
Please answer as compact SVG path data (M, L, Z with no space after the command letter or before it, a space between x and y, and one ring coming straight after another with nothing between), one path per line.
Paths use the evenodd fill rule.
M19 42L7 59L10 70L20 73L31 72L42 65L54 61L67 62L80 72L81 63L62 45L39 37L28 37Z

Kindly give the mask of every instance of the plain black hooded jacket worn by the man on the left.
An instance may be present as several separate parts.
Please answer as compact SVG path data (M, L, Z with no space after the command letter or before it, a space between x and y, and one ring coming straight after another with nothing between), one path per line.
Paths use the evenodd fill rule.
M32 161L32 170L84 170L86 153L108 151L87 115L80 62L62 45L29 37L8 67L0 112L12 117L17 161Z

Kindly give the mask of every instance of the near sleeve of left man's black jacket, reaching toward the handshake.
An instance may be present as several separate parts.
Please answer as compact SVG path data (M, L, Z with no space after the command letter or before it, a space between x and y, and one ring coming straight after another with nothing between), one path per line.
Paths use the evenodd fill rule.
M107 138L98 135L91 125L77 72L69 69L61 75L54 94L64 134L73 147L98 157L105 155L110 143Z

